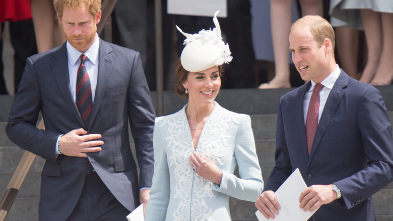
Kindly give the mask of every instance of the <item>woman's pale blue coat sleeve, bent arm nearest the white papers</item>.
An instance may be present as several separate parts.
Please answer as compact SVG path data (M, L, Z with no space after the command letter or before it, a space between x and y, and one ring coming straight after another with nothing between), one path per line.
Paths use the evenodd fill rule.
M245 116L239 126L235 140L235 159L240 178L223 171L221 185L215 190L231 197L255 202L264 187L255 140L251 129L251 119Z

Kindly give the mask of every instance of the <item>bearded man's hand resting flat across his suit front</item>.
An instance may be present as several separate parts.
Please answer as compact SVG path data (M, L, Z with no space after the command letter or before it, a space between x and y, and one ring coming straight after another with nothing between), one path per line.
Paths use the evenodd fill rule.
M72 130L60 137L60 152L67 156L87 157L86 153L101 151L104 141L96 140L101 134L87 134L83 128Z

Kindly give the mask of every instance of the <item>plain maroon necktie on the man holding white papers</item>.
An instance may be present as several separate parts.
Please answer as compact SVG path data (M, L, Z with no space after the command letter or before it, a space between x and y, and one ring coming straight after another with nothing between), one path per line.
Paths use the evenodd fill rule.
M306 118L306 139L308 155L310 155L312 142L314 141L316 128L318 126L319 114L319 91L323 88L320 83L315 84L312 91L310 104L308 105L307 118Z

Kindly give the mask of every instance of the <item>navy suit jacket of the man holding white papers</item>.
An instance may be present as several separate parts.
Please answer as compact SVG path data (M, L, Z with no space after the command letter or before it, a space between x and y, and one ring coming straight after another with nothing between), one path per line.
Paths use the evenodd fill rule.
M393 180L392 131L382 96L341 70L308 156L303 98L310 84L280 99L276 165L264 190L276 191L299 168L307 186L335 183L342 193L313 220L375 220L371 196Z

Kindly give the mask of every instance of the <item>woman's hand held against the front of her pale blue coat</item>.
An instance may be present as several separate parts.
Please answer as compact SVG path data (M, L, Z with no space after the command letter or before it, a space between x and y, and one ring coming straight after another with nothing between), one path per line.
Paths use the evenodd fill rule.
M213 181L218 185L221 184L222 171L212 160L206 158L202 154L193 152L189 156L189 163L199 176L205 178L206 180Z

